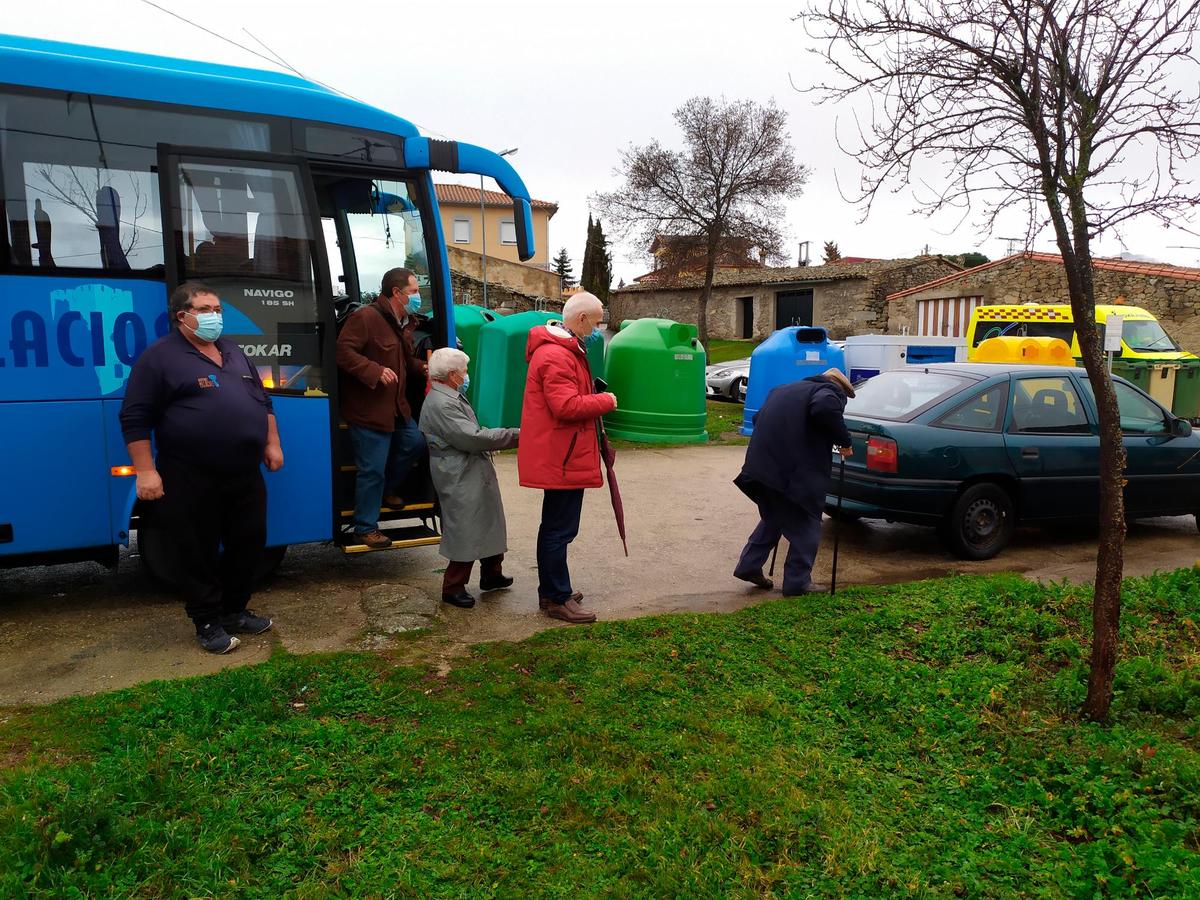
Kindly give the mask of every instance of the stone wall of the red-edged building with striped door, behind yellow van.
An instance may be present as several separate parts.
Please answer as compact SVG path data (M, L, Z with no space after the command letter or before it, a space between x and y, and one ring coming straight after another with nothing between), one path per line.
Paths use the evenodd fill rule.
M1141 306L1153 313L1181 347L1200 352L1200 281L1106 269L1096 269L1094 275L1096 302L1111 304L1117 298L1124 298L1129 306ZM986 304L1070 302L1062 265L1018 258L892 301L888 304L887 330L900 334L907 326L916 332L918 300L956 296L982 296Z

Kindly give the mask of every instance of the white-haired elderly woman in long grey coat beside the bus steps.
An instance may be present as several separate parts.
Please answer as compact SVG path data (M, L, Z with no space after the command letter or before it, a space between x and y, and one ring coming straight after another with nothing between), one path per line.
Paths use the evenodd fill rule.
M443 347L430 356L430 394L421 408L421 432L430 445L430 470L442 504L442 546L450 562L442 580L442 599L468 608L467 590L475 560L479 589L512 586L502 565L508 550L504 503L492 466L492 451L517 445L517 428L481 428L467 402L470 359Z

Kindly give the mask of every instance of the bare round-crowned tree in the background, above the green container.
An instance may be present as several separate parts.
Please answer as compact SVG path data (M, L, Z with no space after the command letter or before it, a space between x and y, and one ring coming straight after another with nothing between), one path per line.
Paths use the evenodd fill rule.
M718 259L745 247L782 258L781 200L798 196L809 173L792 157L787 114L773 103L692 97L674 120L683 149L655 140L622 151L617 174L625 184L593 203L642 246L659 234L700 239L704 277L696 323L707 347ZM660 276L682 275L680 265L682 259L668 259Z

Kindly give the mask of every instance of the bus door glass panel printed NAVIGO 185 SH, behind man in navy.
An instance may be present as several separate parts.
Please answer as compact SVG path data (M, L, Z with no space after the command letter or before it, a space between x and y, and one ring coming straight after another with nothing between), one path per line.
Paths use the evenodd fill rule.
M275 389L323 389L313 240L299 170L186 158L176 164L184 278L217 290L224 331Z

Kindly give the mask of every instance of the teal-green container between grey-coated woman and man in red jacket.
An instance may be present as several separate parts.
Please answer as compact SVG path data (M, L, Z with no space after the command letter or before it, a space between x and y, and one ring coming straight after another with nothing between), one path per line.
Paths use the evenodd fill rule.
M529 331L558 318L557 313L530 310L497 316L480 326L478 376L470 377L470 394L475 415L485 428L520 427L524 379L529 371L524 358Z

